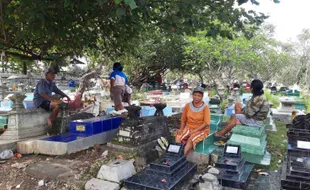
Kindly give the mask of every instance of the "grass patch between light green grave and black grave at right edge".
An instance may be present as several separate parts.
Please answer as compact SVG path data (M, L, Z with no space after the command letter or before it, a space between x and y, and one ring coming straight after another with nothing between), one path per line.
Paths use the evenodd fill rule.
M285 123L275 121L277 132L269 133L267 135L267 150L271 154L271 163L269 166L257 165L257 168L267 170L278 170L284 160L287 152L287 135Z

